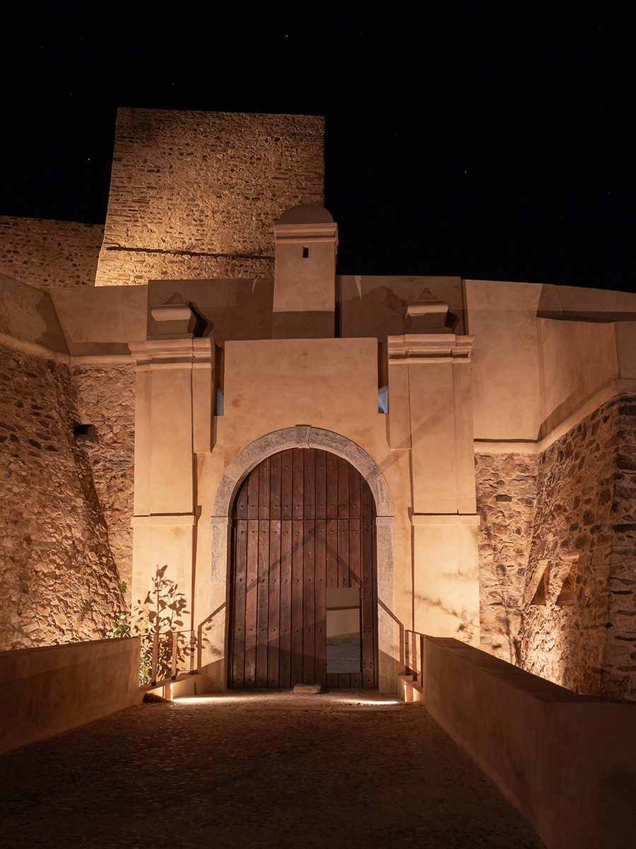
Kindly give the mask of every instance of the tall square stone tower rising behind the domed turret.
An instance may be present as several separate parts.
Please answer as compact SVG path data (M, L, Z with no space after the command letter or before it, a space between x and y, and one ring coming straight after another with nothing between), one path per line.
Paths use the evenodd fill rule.
M273 275L273 226L324 202L324 119L120 109L98 285Z

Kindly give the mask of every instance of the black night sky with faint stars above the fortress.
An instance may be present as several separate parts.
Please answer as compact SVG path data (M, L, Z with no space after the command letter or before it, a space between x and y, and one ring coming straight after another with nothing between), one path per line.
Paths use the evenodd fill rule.
M339 273L636 289L631 3L12 3L0 214L103 222L118 106L326 115Z

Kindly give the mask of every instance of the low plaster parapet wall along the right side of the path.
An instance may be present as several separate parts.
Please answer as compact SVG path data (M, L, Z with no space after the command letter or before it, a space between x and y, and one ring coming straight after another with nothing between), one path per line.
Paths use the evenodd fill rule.
M405 686L404 686L405 685ZM453 638L399 678L549 849L633 846L636 705L581 696Z

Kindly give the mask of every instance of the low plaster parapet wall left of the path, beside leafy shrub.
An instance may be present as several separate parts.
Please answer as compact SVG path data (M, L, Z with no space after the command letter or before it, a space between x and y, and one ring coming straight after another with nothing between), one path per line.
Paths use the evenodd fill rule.
M0 652L0 752L141 701L140 639Z

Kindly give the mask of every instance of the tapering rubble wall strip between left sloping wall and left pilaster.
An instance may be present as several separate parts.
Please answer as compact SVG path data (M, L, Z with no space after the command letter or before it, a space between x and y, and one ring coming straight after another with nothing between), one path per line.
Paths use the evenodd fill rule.
M100 508L109 530L109 548L126 583L132 583L132 528L135 471L135 373L132 365L72 366L77 387L76 410L82 424L92 424L98 441L84 450Z

